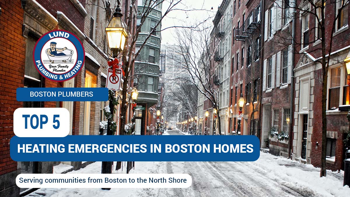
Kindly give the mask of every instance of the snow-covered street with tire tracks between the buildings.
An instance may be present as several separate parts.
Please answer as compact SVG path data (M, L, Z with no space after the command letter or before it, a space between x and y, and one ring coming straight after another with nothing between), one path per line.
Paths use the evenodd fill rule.
M176 128L165 135L181 135ZM208 159L210 160L210 159ZM68 173L100 173L101 162ZM113 171L113 173L125 173ZM255 162L135 162L130 173L187 173L193 178L189 188L138 188L101 190L39 189L28 196L45 197L212 197L212 196L349 196L343 187L341 173L327 171L319 177L319 169L290 159L260 152Z

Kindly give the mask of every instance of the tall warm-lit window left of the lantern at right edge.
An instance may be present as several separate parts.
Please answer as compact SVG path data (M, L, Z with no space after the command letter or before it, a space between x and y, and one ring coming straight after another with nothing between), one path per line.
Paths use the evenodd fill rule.
M340 94L340 67L330 70L330 86L328 90L328 110L334 110L339 107Z

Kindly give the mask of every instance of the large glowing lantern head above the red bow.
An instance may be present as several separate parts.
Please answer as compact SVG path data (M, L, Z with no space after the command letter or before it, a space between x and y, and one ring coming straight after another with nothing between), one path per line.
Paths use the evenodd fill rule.
M116 56L118 51L124 49L125 41L128 36L125 22L121 19L122 16L123 14L118 5L111 22L106 27L107 43L113 52L113 56Z

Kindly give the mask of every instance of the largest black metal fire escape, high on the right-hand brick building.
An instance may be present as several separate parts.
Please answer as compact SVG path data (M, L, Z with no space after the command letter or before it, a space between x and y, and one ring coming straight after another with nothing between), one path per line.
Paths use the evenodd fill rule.
M235 40L246 41L251 38L255 29L259 28L261 22L261 8L255 8L243 22L242 26L235 30Z

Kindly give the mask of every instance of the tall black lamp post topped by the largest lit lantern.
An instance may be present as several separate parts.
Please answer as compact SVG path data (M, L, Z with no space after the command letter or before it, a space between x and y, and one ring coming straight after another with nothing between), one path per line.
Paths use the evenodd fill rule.
M118 53L124 49L125 41L127 38L126 25L125 22L121 19L123 14L119 5L116 8L116 12L113 13L113 18L109 25L106 27L106 35L108 46L113 52L113 57L116 58ZM112 90L109 90L112 91ZM112 91L112 96L115 96L115 92ZM109 108L111 111L111 117L108 118L107 125L107 135L112 135L113 131L111 130L111 123L113 121L114 114L114 98L109 97ZM102 174L111 174L112 173L112 163L113 162L102 162ZM104 190L110 190L111 188L102 188Z

